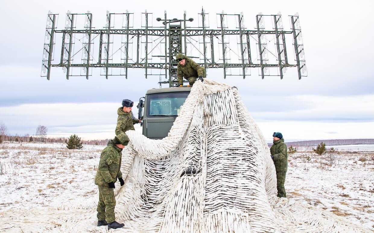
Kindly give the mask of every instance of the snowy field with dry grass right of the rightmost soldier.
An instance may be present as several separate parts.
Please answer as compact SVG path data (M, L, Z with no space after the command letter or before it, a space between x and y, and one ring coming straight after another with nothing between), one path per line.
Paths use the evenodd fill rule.
M342 145L288 156L287 198L303 200L374 230L374 145ZM308 151L309 150L309 151Z

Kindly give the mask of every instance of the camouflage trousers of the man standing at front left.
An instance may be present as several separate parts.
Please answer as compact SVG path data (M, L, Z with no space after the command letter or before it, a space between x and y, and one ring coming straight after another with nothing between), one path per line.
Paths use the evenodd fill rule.
M97 204L97 219L107 220L111 223L116 220L114 215L114 207L116 206L116 198L114 198L114 189L109 186L99 185L99 203Z

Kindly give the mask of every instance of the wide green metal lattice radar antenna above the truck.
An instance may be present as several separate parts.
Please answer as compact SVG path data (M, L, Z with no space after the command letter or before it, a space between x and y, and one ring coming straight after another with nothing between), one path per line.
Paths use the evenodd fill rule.
M290 31L283 30L280 13L259 13L253 30L245 28L242 13L217 14L217 29L207 26L209 18L203 9L198 14L201 25L197 27L192 25L193 18L187 19L186 12L183 19L167 19L165 11L164 19L156 18L159 26L153 26L152 13L145 11L142 16L140 29L135 29L132 13L107 12L105 27L95 29L92 27L91 13L68 12L65 29L57 30L58 14L49 12L41 76L49 80L51 67L62 67L67 79L71 76L85 76L88 79L92 75L92 68L99 67L102 68L100 75L106 79L113 75L127 79L129 68L141 68L145 69L145 78L159 76L160 87L161 84L177 86L178 63L175 55L178 53L193 58L207 69L207 73L208 69L223 69L225 79L238 75L245 79L251 75L250 69L254 67L259 69L262 79L265 76L283 79L287 67L296 67L298 79L307 76L298 15L289 16ZM77 29L82 18L83 28ZM120 18L120 23L115 21L116 18ZM235 26L229 22L232 18ZM272 25L271 29L269 24ZM57 34L61 37L57 37ZM289 42L289 38L292 42ZM61 41L61 49L57 50L61 51L60 61L52 63L57 40ZM288 43L289 46L293 45L294 51L286 49ZM274 48L270 48L270 45ZM118 51L121 51L121 55ZM294 54L296 64L289 63L288 53ZM76 70L80 72L76 73ZM152 73L155 70L159 73ZM165 77L165 81L162 81L162 77Z

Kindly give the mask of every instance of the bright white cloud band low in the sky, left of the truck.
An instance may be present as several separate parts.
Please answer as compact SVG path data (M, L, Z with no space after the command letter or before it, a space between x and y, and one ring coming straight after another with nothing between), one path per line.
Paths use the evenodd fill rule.
M134 104L137 102L134 101ZM69 136L74 133L114 136L119 107L116 103L21 104L0 107L0 116L6 119L3 122L13 135L32 135L38 125L44 125L48 128L49 136Z

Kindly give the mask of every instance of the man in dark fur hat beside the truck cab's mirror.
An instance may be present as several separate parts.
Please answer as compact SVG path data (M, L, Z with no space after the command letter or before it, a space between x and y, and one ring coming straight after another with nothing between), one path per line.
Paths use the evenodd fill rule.
M132 115L132 106L134 106L134 102L125 99L122 101L122 107L117 110L118 118L115 132L120 141L128 141L129 138L125 132L127 130L135 130L134 124L140 123L140 120Z

